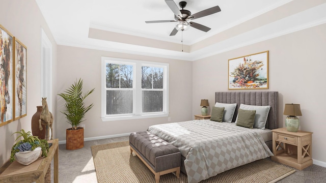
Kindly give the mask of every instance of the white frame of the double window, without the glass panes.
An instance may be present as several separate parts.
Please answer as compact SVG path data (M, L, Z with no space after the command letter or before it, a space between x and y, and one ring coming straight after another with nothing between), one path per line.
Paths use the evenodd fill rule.
M113 121L113 120L128 120L128 119L141 119L151 117L166 117L169 115L169 64L168 63L157 63L149 62L144 60L124 59L102 56L101 64L101 119L102 121ZM107 90L130 90L131 88L117 88L108 89L106 88L106 64L121 64L121 65L132 65L133 66L133 102L131 114L106 114L106 91ZM154 89L163 91L163 110L160 112L142 112L142 66L147 67L160 67L163 68L163 89ZM151 89L153 90L153 89Z

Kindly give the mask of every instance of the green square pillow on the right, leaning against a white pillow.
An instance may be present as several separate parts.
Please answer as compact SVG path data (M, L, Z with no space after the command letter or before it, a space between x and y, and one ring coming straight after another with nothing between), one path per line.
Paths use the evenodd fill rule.
M256 110L243 110L239 108L236 125L240 127L253 129L255 114L256 114Z

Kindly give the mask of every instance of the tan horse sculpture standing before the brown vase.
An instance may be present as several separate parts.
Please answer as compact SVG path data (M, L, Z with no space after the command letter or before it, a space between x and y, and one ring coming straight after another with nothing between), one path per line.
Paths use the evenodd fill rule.
M53 140L52 131L53 115L47 107L46 98L42 97L42 112L39 119L39 129L43 130L42 124L46 126L46 140ZM49 128L51 129L51 139L49 139Z

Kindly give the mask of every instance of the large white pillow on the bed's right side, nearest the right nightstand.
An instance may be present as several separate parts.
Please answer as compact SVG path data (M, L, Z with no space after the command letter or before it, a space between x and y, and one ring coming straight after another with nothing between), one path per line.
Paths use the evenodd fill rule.
M240 104L239 109L256 110L254 128L258 128L262 130L265 129L270 106L255 106L255 105ZM235 123L237 120L238 120L238 116L236 117Z

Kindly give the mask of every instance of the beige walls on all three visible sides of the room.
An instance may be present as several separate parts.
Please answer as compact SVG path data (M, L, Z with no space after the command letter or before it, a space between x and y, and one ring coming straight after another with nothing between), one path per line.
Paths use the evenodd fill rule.
M323 152L323 121L326 100L323 73L326 62L323 51L326 47L326 24L305 29L268 41L228 51L196 62L149 56L113 53L84 48L58 46L35 1L0 0L0 24L28 48L28 114L19 120L0 127L0 166L10 157L10 150L20 129L31 130L31 118L36 106L41 105L41 28L52 42L53 51L53 104L55 115L54 137L65 140L65 122L62 99L57 96L76 78L84 79L84 87L95 87L88 98L94 108L86 114L85 138L146 130L148 126L168 123L168 117L138 120L106 121L100 119L100 64L101 56L140 59L170 64L169 110L171 121L192 119L200 113L200 99L208 99L213 106L214 92L227 91L228 59L269 50L269 89L279 92L279 126L284 127L285 103L299 103L303 116L301 130L313 132L313 159L326 162ZM57 50L58 49L58 50ZM58 58L57 58L58 57ZM58 68L58 69L57 69ZM57 105L58 102L58 105Z

